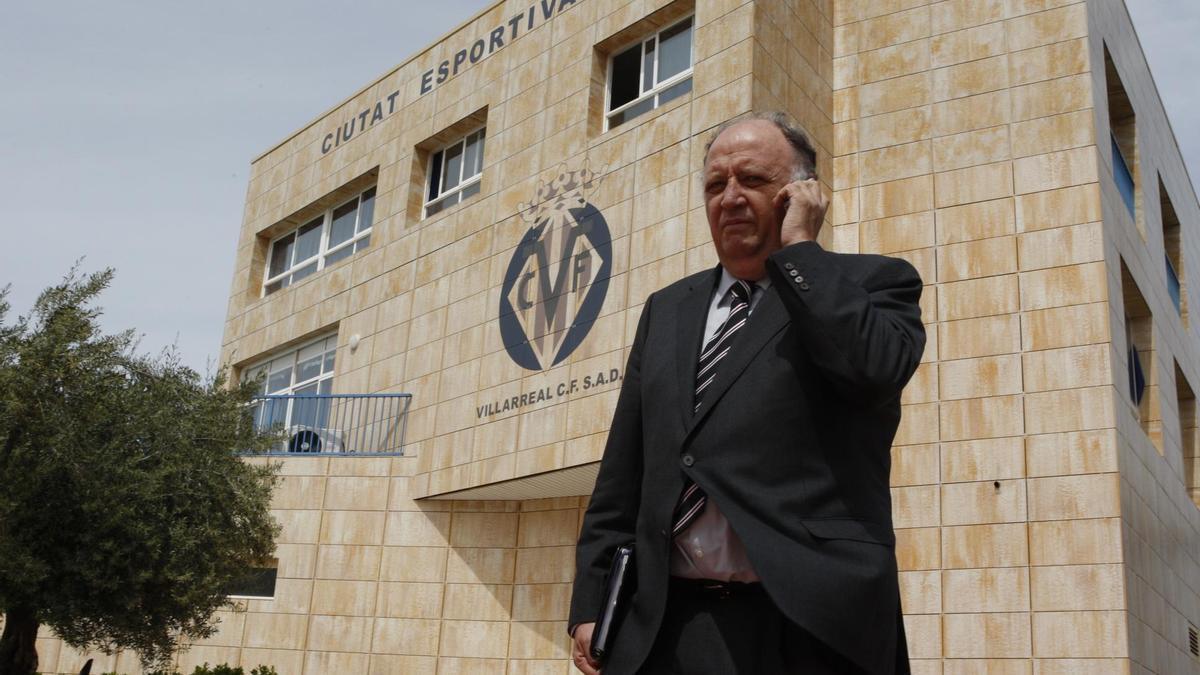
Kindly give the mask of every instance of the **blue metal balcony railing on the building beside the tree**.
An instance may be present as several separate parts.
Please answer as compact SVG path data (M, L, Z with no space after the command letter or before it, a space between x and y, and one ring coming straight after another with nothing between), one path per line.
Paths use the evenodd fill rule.
M404 453L412 394L256 396L254 426L278 434L268 454Z

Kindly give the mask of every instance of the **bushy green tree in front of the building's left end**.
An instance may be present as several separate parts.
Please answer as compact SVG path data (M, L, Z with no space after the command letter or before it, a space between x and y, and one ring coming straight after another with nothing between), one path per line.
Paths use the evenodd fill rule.
M72 270L11 324L0 293L0 675L32 673L38 625L163 665L274 551L275 472L235 456L270 442L252 388L103 334L112 277Z

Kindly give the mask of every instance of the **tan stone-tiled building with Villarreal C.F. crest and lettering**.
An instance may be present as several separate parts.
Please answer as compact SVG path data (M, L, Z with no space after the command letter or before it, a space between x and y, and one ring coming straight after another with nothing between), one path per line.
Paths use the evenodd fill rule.
M715 263L696 174L750 109L812 136L827 247L926 282L892 473L913 670L1200 671L1200 207L1121 0L504 0L264 153L222 359L412 398L402 447L325 407L247 460L282 461L274 585L181 669L572 671L641 303Z

